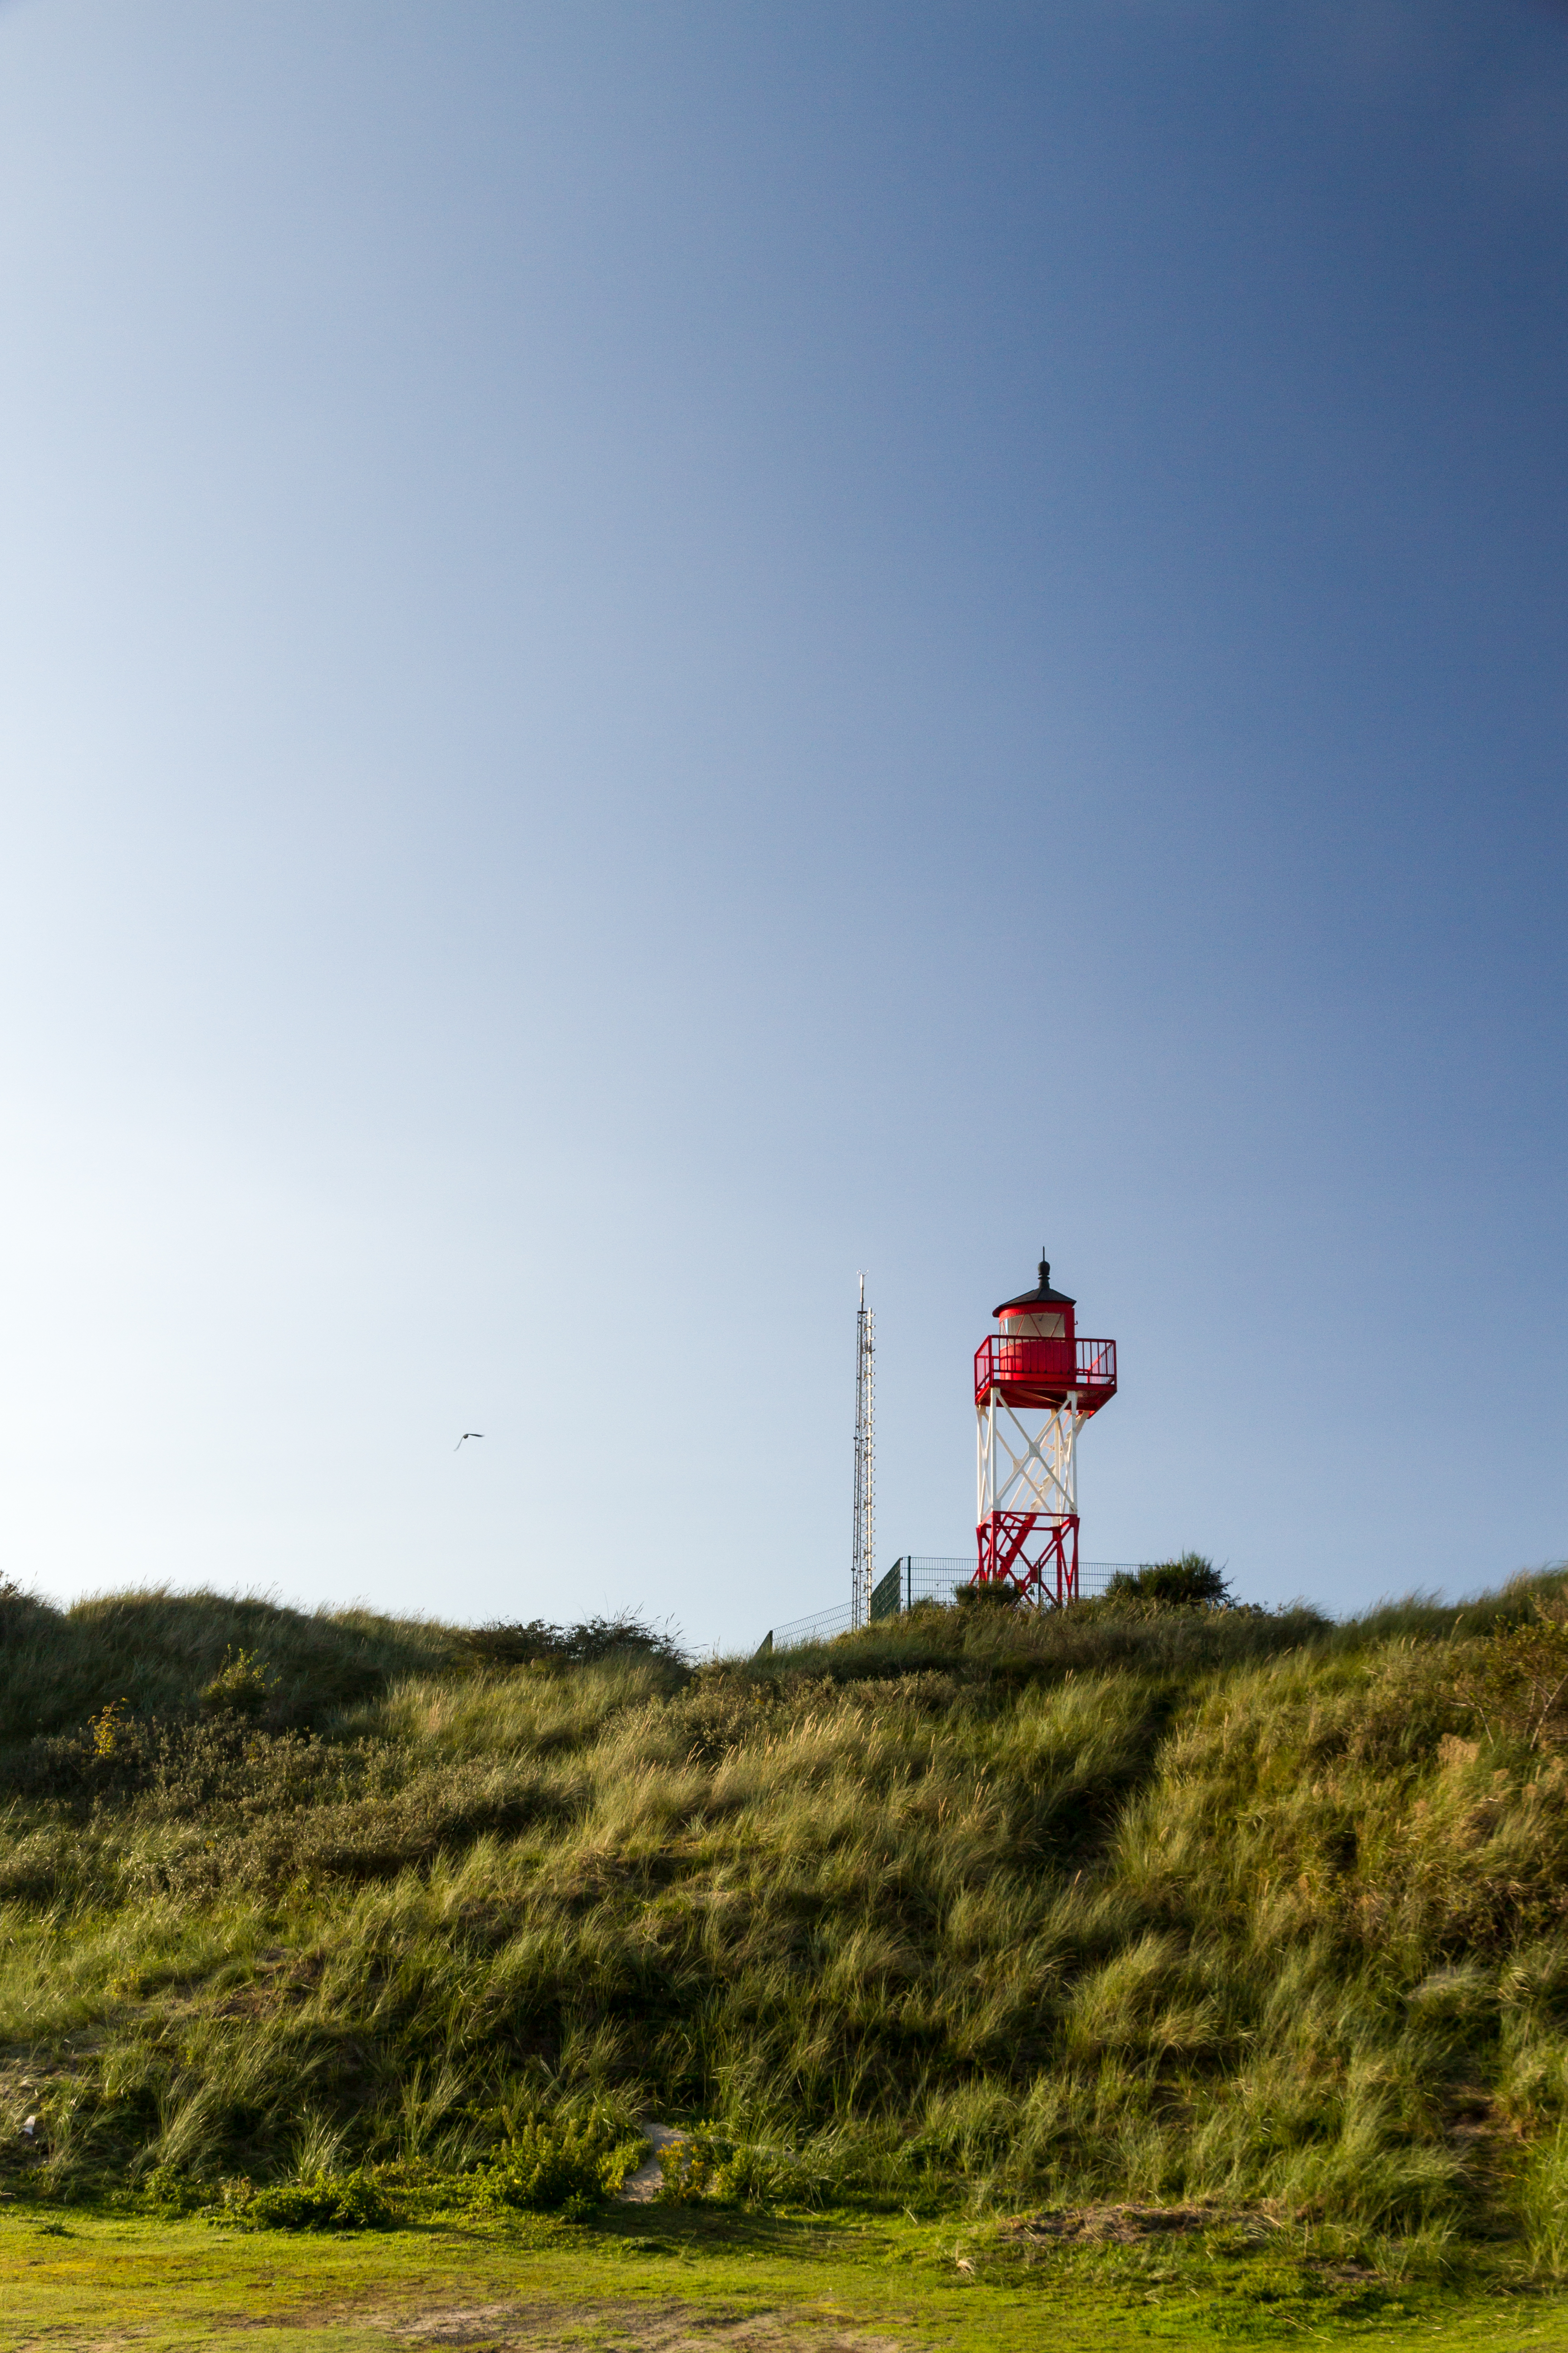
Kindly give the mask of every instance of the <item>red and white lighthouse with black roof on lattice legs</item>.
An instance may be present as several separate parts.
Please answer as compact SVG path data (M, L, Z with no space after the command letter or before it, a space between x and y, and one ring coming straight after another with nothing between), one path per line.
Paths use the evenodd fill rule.
M1117 1395L1114 1339L1079 1339L1077 1299L1039 1282L992 1308L976 1348L976 1584L1030 1602L1079 1593L1079 1431Z

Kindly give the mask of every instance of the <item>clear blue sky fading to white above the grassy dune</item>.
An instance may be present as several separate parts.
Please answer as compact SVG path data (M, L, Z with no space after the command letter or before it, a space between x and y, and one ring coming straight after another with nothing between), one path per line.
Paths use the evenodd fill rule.
M755 1642L1041 1245L1568 1551L1566 296L1544 0L0 9L0 1565Z

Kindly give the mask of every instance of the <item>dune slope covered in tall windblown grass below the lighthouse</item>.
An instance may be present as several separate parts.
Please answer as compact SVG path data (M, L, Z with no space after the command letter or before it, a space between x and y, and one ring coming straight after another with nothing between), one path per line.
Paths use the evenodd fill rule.
M696 1671L7 1595L0 2179L414 2184L656 2115L724 2200L1215 2200L1561 2275L1559 1595Z

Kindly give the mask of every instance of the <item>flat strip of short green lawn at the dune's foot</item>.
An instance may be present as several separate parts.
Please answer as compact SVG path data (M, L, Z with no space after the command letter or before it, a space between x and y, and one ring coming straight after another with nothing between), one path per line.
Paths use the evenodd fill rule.
M343 2238L12 2207L0 2219L0 2353L1568 2348L1568 2297L1521 2289L1505 2273L1401 2282L1305 2245L1225 2252L1218 2235L1032 2252L1025 2264L994 2224L764 2221L684 2207L588 2226L435 2224Z

